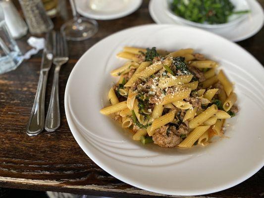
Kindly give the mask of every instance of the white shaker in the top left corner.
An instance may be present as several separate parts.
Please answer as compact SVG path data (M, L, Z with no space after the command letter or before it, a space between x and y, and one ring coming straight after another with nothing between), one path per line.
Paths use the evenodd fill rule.
M5 23L11 33L12 38L19 39L27 34L28 27L22 19L11 0L0 0L3 8Z

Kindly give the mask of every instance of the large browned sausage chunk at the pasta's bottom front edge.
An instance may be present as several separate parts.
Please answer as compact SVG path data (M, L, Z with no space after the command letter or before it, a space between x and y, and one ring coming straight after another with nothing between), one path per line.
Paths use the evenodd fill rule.
M159 147L165 148L176 147L176 145L180 143L181 139L172 131L167 131L167 129L168 126L162 126L156 129L155 133L152 136L154 144L157 144Z

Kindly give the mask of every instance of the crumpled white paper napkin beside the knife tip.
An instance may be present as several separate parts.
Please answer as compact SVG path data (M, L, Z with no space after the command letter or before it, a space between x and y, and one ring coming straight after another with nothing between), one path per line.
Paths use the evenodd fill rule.
M39 52L39 50L44 49L45 46L45 39L44 38L37 38L37 37L30 37L27 40L28 45L32 47L32 49L28 50L23 56L23 59L29 59L32 55Z

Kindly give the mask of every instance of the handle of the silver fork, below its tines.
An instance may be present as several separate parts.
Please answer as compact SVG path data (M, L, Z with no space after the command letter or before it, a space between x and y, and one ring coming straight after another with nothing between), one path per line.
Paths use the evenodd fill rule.
M58 96L58 80L60 64L57 64L54 70L52 94L49 109L45 121L45 130L49 132L56 131L60 125L59 96Z

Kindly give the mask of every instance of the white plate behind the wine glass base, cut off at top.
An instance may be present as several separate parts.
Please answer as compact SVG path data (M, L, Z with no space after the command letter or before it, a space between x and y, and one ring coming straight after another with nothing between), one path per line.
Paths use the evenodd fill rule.
M97 20L110 20L127 16L136 11L142 4L142 0L114 0L110 2L113 7L102 6L100 9L93 9L91 7L91 1L92 0L76 0L77 11L85 17ZM104 0L94 1L105 3Z

